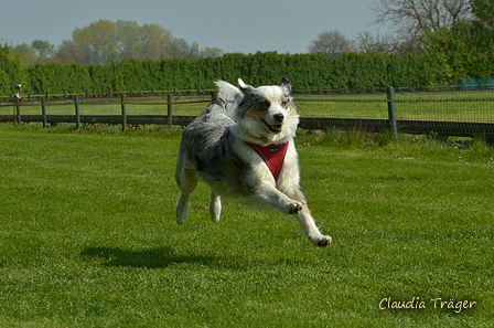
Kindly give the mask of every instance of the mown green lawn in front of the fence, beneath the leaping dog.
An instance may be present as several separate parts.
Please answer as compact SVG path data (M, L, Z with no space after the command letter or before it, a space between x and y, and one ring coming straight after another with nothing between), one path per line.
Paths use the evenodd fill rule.
M204 186L176 225L179 140L0 125L1 327L492 327L485 142L301 133L321 250Z

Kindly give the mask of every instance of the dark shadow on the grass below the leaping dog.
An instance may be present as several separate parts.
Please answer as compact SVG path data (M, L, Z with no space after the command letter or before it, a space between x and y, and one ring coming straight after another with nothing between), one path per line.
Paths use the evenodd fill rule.
M218 261L214 256L180 255L171 247L160 247L143 251L122 250L119 247L87 247L80 255L87 258L100 260L105 266L131 266L162 268L180 263L211 265Z

